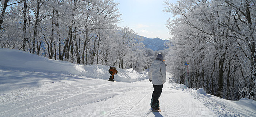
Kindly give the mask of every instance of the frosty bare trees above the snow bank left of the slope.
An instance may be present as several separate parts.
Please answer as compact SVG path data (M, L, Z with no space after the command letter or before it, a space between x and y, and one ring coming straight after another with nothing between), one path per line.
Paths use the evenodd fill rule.
M118 27L114 0L0 0L0 47L76 64L144 71L155 55L129 27Z

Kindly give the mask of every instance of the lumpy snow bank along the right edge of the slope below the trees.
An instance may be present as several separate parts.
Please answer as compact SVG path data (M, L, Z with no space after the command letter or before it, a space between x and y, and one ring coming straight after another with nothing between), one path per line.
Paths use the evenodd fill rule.
M256 117L256 101L251 99L226 100L207 94L203 88L196 90L195 88L187 88L184 84L172 83L168 88L190 93L218 117Z

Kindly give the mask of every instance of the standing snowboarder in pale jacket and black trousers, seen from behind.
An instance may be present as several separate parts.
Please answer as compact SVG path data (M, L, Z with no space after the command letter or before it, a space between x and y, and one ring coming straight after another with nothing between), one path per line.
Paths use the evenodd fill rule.
M163 83L166 81L166 65L162 54L157 54L155 61L148 70L149 81L152 82L154 91L152 93L151 107L154 110L160 110L159 100L162 93Z

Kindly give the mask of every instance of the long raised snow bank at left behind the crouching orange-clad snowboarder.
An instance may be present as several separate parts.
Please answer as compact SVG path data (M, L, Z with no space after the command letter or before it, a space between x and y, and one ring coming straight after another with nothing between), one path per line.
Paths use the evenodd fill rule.
M92 78L109 79L110 66L77 65L74 63L52 60L28 52L0 48L0 69L34 71L44 73L63 73L81 75ZM135 82L148 77L147 72L138 73L133 69L117 68L118 75L114 79L120 82Z

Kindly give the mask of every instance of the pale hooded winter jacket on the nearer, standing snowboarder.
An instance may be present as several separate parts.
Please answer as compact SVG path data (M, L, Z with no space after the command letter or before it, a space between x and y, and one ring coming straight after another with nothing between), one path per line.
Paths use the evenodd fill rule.
M162 54L161 54L162 55ZM153 85L162 85L166 80L166 67L165 63L157 59L152 63L148 70L149 79L152 80Z

